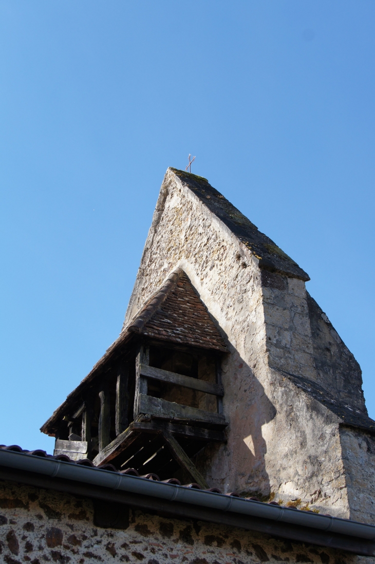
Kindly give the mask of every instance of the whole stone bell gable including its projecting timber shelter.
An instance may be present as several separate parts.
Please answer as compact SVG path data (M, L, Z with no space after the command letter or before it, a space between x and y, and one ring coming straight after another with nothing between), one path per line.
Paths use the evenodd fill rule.
M375 421L308 280L168 169L122 332L42 431L95 465L375 522Z

